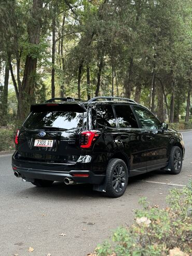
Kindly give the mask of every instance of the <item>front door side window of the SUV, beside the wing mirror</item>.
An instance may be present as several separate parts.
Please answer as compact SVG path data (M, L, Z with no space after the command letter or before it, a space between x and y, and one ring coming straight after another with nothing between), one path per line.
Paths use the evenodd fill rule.
M134 106L134 110L140 119L142 128L160 129L160 122L148 110L143 109L143 107L139 106Z

